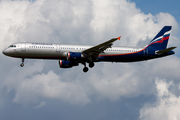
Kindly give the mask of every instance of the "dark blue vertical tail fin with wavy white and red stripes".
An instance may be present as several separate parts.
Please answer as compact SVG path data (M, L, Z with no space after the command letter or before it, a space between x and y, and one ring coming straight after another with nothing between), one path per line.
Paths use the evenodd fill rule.
M150 41L147 48L163 50L167 48L172 26L164 26L161 31Z

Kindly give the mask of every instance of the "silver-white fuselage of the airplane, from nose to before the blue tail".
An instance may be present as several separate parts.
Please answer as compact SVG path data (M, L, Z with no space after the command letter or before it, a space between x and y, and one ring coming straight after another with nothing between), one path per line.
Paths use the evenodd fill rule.
M34 59L65 59L68 52L82 52L92 46L63 45L49 43L15 43L3 53L11 57ZM127 54L141 51L142 48L112 47L100 55Z

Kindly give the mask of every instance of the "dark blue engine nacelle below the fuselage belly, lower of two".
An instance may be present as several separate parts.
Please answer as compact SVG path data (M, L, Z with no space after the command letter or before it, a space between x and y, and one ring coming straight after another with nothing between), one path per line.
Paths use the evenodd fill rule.
M78 63L70 62L67 60L59 60L59 67L60 68L71 68L73 66L78 66Z

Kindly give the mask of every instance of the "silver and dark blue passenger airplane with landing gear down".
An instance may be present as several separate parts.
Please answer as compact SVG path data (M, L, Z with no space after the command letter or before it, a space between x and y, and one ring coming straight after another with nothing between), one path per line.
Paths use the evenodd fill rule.
M58 60L60 68L71 68L81 63L83 72L87 72L86 63L92 68L95 62L137 62L175 54L172 50L176 47L167 48L171 28L164 26L144 48L113 47L113 42L120 40L120 36L96 46L19 42L4 49L3 54L21 58L21 67L25 59L52 59Z

